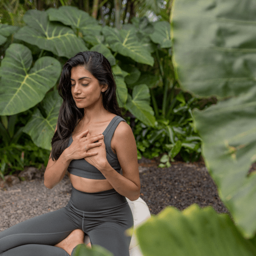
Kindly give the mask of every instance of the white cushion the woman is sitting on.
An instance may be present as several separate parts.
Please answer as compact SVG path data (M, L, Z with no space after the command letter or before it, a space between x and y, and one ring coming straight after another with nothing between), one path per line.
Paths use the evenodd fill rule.
M134 229L135 229L140 224L145 222L148 218L150 218L150 212L147 204L145 203L145 201L143 201L143 199L138 198L135 201L130 201L128 198L126 199L129 206L131 207L131 212L134 218ZM90 243L89 236L84 237L84 243L85 244ZM134 233L131 236L129 252L130 252L130 256L143 256L140 251L140 247L138 245L138 241Z

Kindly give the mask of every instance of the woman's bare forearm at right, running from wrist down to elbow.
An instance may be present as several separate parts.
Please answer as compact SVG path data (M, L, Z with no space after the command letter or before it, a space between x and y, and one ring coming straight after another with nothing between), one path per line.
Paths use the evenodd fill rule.
M100 171L120 195L125 196L131 201L137 200L140 197L140 187L116 172L109 163L106 163Z

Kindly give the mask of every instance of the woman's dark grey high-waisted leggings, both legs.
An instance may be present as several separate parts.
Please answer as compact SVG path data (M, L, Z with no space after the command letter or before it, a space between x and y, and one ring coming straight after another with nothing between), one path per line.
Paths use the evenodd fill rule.
M92 246L101 245L114 256L129 256L131 237L125 236L125 230L132 226L128 202L114 189L85 193L72 187L66 207L1 232L0 256L68 256L54 245L75 229L83 230Z

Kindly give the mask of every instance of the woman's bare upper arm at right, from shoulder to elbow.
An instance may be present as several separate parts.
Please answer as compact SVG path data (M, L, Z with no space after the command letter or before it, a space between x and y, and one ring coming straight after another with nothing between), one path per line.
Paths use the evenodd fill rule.
M120 122L113 134L111 145L122 168L123 176L140 188L137 146L130 125Z

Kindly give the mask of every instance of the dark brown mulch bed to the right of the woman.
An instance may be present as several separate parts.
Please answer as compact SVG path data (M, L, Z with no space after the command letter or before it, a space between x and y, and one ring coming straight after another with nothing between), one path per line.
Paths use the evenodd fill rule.
M149 166L140 173L140 195L152 214L157 214L166 206L182 210L191 204L212 206L217 212L228 212L203 163L175 162L163 169L157 168L154 162L140 166Z

